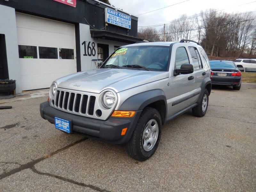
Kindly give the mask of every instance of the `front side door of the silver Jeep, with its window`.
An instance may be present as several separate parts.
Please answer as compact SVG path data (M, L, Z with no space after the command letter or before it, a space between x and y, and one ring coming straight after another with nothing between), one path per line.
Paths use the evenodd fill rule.
M180 45L180 46L179 46ZM167 100L168 116L188 107L193 102L194 79L188 80L191 74L180 74L174 76L174 70L182 64L189 64L188 47L184 44L173 44L170 65L171 98Z

